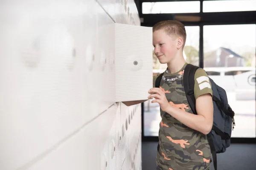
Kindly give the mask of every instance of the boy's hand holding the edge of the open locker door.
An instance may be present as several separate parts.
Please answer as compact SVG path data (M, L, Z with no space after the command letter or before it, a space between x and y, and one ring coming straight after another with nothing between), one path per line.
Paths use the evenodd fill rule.
M160 88L151 88L149 91L148 91L149 95L148 96L148 99L154 97L155 99L151 102L151 103L159 103L162 111L166 111L167 108L169 108L170 103L168 102L168 100L166 99L166 95L165 93L163 93L163 91L160 90ZM155 94L154 94L155 93Z

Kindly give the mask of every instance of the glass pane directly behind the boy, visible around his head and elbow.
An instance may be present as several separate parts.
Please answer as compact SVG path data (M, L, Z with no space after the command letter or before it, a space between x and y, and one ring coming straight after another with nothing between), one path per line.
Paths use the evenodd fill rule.
M185 26L186 43L184 46L183 56L188 63L199 65L199 26ZM153 54L153 75L162 73L166 70L166 64L160 64L157 57ZM160 117L160 106L158 103L151 103L151 100L144 102L144 136L158 136Z

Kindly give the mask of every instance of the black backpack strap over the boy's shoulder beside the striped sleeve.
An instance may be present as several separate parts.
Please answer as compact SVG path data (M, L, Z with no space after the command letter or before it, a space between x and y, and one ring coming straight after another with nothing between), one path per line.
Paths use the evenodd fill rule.
M189 105L191 107L191 110L194 114L196 113L195 109L195 94L194 94L194 87L195 87L195 71L198 69L198 66L187 64L184 70L183 74L183 85L184 90L186 93L186 98L189 102Z

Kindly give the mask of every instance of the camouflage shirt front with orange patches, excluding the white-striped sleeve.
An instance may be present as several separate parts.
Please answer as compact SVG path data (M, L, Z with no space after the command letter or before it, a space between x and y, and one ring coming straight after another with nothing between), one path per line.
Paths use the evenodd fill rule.
M160 89L166 94L171 105L192 113L183 87L186 64L174 74L169 74L166 70L160 82ZM153 77L153 87L159 75ZM162 121L159 125L157 168L160 170L208 170L211 152L207 136L187 127L162 110L160 114Z

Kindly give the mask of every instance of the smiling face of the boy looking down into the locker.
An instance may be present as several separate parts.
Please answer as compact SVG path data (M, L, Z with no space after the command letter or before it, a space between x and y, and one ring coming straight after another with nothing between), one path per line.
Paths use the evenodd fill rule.
M153 46L161 64L170 62L177 55L177 40L162 29L153 32Z

